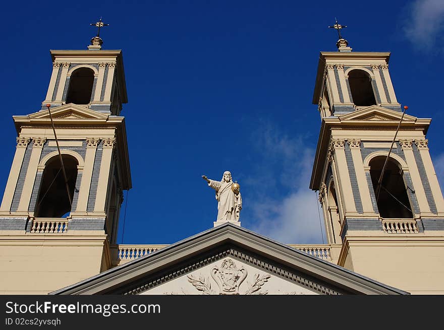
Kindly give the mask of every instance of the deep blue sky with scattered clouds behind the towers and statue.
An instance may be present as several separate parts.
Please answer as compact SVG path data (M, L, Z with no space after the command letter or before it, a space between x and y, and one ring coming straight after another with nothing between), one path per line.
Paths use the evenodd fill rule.
M123 50L133 188L119 243L174 243L211 228L217 202L201 175L220 180L225 170L241 185L243 227L284 243L322 243L308 188L320 126L311 100L319 51L336 51L327 28L335 17L354 51L392 52L398 100L433 119L427 138L444 178L442 1L3 6L0 196L15 152L12 115L39 110L49 49L86 49L96 33L89 23L102 16L103 49Z

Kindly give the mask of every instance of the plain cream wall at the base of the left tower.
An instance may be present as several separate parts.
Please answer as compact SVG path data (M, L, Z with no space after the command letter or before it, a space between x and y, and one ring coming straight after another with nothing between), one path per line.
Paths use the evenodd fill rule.
M47 294L100 272L106 235L9 232L0 233L0 294Z

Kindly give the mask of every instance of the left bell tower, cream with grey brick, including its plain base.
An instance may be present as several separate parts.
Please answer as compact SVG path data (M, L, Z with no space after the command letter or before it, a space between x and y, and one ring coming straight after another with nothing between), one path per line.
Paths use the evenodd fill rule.
M0 206L0 293L44 294L111 267L131 174L120 116L127 103L122 51L101 44L97 35L87 50L50 50L41 107L13 116L16 153Z

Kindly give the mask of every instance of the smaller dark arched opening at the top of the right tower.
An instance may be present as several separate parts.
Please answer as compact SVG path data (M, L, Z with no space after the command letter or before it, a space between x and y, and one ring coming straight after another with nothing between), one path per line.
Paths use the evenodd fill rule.
M371 87L371 78L365 71L350 71L349 84L355 105L370 106L376 104L373 88Z

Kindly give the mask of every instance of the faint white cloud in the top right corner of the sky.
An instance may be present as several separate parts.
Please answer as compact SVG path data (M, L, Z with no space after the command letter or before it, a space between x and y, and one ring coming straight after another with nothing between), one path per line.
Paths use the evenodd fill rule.
M444 1L416 0L408 7L406 36L418 46L431 47L441 42L444 30Z

